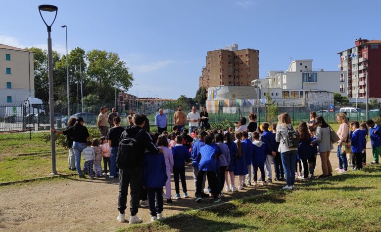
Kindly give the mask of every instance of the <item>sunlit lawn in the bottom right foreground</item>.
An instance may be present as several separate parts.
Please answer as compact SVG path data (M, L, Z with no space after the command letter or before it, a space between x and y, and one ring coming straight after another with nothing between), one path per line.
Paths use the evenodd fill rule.
M165 215L165 211L163 212ZM261 197L192 210L164 221L119 229L147 231L381 231L381 166Z

